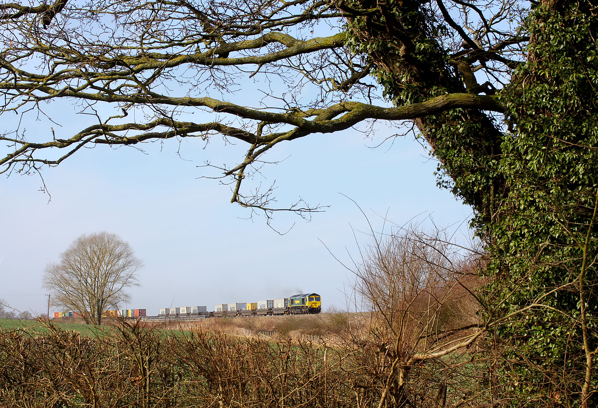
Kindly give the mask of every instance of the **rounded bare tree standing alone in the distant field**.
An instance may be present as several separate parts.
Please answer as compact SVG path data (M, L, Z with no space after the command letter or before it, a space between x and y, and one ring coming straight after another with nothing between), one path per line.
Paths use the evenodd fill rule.
M45 268L44 287L54 305L81 313L87 324L102 324L102 311L129 300L126 289L137 286L141 259L118 235L81 235Z

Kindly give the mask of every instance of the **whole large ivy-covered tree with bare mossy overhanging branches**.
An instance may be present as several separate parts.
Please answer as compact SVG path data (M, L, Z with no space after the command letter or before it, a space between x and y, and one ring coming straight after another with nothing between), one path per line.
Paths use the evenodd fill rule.
M41 171L84 146L221 134L248 145L222 169L232 201L268 213L270 191L241 187L278 143L411 121L439 159L440 185L474 208L492 259L481 330L498 355L497 401L598 404L594 2L57 0L0 10L0 114L63 100L90 113L72 134L7 130L4 172ZM236 102L234 90L260 84L260 100Z

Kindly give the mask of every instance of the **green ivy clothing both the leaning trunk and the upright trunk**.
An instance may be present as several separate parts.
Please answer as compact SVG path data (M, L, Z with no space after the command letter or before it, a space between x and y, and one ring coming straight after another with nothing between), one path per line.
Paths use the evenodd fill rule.
M350 23L386 96L401 105L465 91L447 68L458 62L431 40L443 27L425 19L425 4L403 5ZM412 61L399 55L400 36L385 41L381 27L392 19L416 44ZM585 0L530 12L519 29L530 38L528 60L499 91L508 130L472 109L417 122L440 161L439 184L472 205L472 226L492 256L484 318L501 322L494 344L503 357L501 390L515 406L581 406L582 388L598 388L587 370L598 347L597 27L598 10ZM598 392L588 395L596 406Z

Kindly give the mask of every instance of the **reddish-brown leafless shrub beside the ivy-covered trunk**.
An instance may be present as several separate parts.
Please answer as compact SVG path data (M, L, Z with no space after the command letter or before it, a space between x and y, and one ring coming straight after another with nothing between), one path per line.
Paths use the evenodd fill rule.
M472 403L486 401L490 390L471 386L486 382L483 359L463 364L483 332L476 295L483 254L450 243L444 231L414 226L370 238L353 272L372 314L370 336L362 341L382 349L386 361L382 367L363 364L373 370L367 375L375 367L386 377L379 408L418 401L451 406L463 389L471 392ZM471 378L475 381L466 384Z

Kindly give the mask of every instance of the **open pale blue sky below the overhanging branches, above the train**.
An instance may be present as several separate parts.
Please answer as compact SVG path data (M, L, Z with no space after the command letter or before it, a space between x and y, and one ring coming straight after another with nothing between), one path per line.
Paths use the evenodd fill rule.
M123 308L145 308L148 315L169 306L212 310L215 303L296 292L318 292L324 309L342 308L353 277L328 249L350 262L356 238L368 241L367 222L345 195L376 229L388 213L398 225L413 217L430 225L431 216L440 226L461 225L466 234L462 224L471 217L469 207L435 185L436 163L415 140L401 137L392 147L371 148L392 131L380 124L372 139L347 130L277 146L267 159L284 160L264 167L262 179L276 180L278 204L302 197L330 206L310 222L277 213L274 228L286 231L294 224L282 236L264 217L248 219L248 210L230 204L230 186L198 178L206 169L197 166L207 159L232 164L242 158L244 146L224 146L217 137L207 147L200 140L153 143L144 146L145 154L85 149L44 171L50 201L39 192L39 177L3 177L0 297L20 311L45 312L45 265L79 235L108 231L128 241L145 263L141 286L130 291L132 301Z

